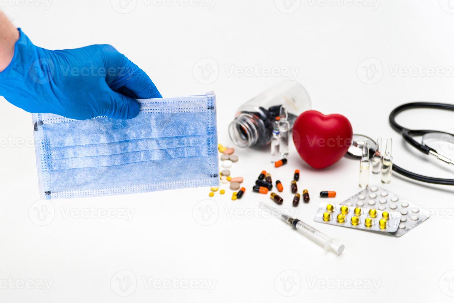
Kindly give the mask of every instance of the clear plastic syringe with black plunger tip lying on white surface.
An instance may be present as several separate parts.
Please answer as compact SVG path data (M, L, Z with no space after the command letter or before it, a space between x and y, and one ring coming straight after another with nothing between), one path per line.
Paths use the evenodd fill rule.
M345 246L343 244L339 244L339 241L337 239L330 238L326 234L319 232L315 228L307 225L306 223L298 219L291 218L290 216L281 212L279 209L275 209L274 207L268 206L263 202L260 202L260 206L263 209L270 210L273 217L281 219L286 224L291 225L293 229L296 229L297 231L305 235L307 238L310 238L312 241L321 245L326 250L332 249L338 255L340 255L344 251Z

